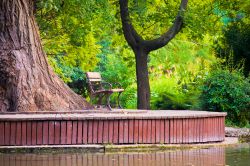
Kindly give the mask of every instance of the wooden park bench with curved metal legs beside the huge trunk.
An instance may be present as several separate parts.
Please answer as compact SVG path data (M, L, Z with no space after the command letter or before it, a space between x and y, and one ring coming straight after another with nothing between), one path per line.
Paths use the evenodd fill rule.
M98 98L98 105L102 105L102 100L105 97L106 103L105 105L108 107L109 110L111 109L110 106L110 96L116 92L118 93L117 102L118 107L122 108L120 105L120 95L124 91L122 89L120 83L108 83L102 80L101 74L98 72L87 72L87 83L89 88L90 100L92 101L94 98ZM113 88L116 87L115 89Z

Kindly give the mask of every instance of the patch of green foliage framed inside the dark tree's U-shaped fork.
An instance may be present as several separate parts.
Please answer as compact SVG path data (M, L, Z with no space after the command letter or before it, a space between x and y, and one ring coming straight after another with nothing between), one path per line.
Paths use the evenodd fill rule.
M179 2L161 0L129 1L133 25L143 38L152 39L166 32L178 13Z

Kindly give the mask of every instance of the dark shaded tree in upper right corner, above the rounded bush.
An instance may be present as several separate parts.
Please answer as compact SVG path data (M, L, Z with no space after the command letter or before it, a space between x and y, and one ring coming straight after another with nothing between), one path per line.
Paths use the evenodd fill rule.
M220 13L224 13L224 25L221 40L217 42L217 55L225 59L224 65L243 65L247 77L250 72L250 1L233 1L230 8L221 5Z

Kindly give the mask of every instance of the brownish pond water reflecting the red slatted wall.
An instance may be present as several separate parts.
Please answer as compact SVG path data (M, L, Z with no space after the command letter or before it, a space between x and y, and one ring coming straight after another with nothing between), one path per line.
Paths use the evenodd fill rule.
M0 166L250 166L250 144L149 153L0 154Z

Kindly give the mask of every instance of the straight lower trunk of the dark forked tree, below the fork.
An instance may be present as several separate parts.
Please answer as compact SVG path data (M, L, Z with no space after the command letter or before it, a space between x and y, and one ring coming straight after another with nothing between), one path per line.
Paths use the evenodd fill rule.
M150 86L148 78L148 54L143 49L134 51L136 57L137 108L150 109Z

